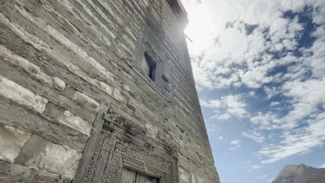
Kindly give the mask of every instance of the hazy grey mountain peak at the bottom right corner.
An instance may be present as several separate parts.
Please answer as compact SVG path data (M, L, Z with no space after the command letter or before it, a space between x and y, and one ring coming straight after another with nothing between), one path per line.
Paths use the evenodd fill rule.
M313 168L304 164L286 165L272 183L324 183L325 168Z

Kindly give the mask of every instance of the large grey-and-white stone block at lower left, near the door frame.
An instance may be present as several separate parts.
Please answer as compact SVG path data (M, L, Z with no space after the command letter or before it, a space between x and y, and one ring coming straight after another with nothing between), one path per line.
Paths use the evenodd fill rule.
M81 153L76 150L58 146L33 135L22 148L15 163L72 179L80 158Z

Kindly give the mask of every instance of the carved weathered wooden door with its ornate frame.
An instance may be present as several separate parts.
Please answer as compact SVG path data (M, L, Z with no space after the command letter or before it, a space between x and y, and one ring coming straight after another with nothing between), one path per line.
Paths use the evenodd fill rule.
M73 182L176 183L177 153L103 103Z

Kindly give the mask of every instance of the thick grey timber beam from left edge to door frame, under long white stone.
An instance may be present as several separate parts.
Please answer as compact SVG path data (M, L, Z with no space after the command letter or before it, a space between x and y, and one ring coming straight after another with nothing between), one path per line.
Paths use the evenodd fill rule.
M10 101L0 95L0 121L14 128L39 134L40 137L69 148L83 151L88 136L67 127L49 121L39 113L31 112L19 103Z

